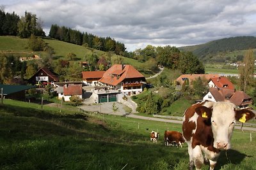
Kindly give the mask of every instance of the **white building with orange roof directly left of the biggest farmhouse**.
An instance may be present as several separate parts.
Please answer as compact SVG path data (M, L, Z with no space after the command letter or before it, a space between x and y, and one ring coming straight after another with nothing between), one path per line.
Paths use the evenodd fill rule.
M99 85L98 81L103 77L106 71L82 71L83 83L85 85L96 86Z

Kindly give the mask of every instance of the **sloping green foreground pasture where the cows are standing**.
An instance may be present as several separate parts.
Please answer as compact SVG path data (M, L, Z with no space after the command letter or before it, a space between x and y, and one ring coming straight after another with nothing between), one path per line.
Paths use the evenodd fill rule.
M180 124L4 103L0 169L188 169L186 144L175 148L163 143L163 132L181 131ZM149 139L152 130L160 132L157 144ZM250 132L235 130L233 148L227 157L221 153L216 169L255 169L256 134L251 134L252 142Z

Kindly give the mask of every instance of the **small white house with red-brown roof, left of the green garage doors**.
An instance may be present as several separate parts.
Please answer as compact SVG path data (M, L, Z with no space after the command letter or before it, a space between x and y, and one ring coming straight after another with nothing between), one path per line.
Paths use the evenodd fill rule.
M83 97L83 89L81 84L65 84L57 88L58 98L70 101L70 97L77 96L80 99Z

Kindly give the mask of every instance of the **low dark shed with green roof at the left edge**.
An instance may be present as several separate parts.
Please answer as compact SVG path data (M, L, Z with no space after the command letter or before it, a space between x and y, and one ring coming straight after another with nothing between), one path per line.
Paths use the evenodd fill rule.
M33 85L3 85L0 84L0 89L3 88L3 96L6 99L13 99L19 101L26 100L26 90L33 89ZM1 92L1 91L0 91Z

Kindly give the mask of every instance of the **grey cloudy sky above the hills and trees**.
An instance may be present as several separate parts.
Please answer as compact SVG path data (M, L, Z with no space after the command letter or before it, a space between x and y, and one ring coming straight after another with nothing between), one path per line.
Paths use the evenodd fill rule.
M36 14L52 24L110 36L127 51L256 36L255 0L0 0L4 11Z

